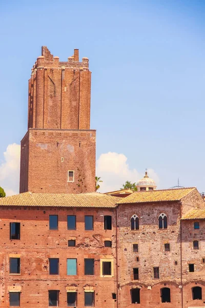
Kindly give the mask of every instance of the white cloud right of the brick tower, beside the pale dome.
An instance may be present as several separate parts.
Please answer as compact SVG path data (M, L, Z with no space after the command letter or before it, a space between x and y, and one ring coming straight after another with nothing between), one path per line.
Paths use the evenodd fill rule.
M119 190L127 180L132 183L144 177L136 169L130 169L124 154L108 152L101 154L97 160L96 175L101 177L100 192ZM159 182L158 176L153 169L148 169L150 178Z

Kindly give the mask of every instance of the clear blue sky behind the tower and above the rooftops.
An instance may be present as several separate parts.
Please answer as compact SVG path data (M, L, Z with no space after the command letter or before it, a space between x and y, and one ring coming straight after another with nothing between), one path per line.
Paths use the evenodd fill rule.
M89 57L97 159L122 153L158 188L179 177L205 190L204 15L203 0L1 1L0 172L26 133L28 79L47 45L60 61L74 48Z

